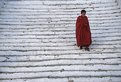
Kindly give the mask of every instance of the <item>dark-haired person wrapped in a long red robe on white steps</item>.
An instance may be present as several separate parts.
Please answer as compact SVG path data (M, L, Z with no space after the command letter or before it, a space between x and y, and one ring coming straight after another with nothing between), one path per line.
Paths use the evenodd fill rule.
M76 41L77 46L80 47L80 49L85 47L86 51L90 51L89 46L92 43L92 39L89 21L85 10L81 11L81 15L78 16L76 21Z

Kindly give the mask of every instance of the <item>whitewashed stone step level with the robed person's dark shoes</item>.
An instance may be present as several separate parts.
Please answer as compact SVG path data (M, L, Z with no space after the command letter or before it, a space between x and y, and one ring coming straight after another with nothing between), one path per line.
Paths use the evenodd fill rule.
M70 48L69 48L70 47ZM101 45L98 46L97 45L93 45L91 46L92 48L96 48L96 49L105 49L105 48L109 48L109 49L114 49L114 48L118 48L120 49L120 45ZM18 51L18 50L23 50L23 51L31 51L31 50L35 50L35 51L62 51L62 50L74 50L75 47L72 46L1 46L0 47L0 51Z

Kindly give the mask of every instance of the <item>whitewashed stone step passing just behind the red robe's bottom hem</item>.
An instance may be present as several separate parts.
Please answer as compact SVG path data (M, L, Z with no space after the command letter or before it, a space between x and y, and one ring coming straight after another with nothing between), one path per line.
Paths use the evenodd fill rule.
M73 46L74 44L75 44L75 42L74 41L71 41L71 42L69 42L69 43L66 43L66 44L64 44L65 42L63 41L63 40L58 40L58 41L54 41L54 40L52 40L52 41L50 41L51 43L48 43L49 41L47 41L47 40L44 40L44 42L43 41L41 41L41 43L40 44L38 44L38 42L19 42L19 44L18 44L18 42L0 42L1 44L0 44L0 46L4 46L4 47L9 47L9 46L15 46L15 47L18 47L18 46L20 46L20 47L22 47L22 46L33 46L33 47L35 47L35 46L37 46L37 47L40 47L40 46L48 46L48 47L55 47L55 46ZM56 43L55 43L56 42ZM63 43L62 43L63 42ZM50 45L49 45L50 44ZM94 41L94 44L93 45L120 45L121 44L121 41L107 41L107 42L99 42L99 41Z

